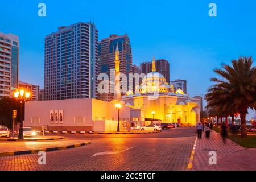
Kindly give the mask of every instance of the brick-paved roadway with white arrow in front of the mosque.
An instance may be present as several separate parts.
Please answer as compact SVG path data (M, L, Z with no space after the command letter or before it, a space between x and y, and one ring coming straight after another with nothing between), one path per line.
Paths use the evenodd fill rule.
M141 137L134 135L131 138L117 138L115 135L94 135L90 138L88 136L91 135L69 136L77 140L86 137L92 143L84 147L47 152L46 165L38 164L36 154L2 156L0 170L185 170L196 138L195 132L190 129L142 134ZM113 151L116 153L93 156L97 152Z

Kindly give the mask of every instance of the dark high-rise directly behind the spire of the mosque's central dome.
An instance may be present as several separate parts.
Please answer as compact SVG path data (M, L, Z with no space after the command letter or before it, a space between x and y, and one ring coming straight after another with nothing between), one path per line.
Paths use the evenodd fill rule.
M156 71L161 73L167 82L170 82L170 64L165 59L155 60ZM152 62L143 62L141 63L141 73L150 73L152 70Z

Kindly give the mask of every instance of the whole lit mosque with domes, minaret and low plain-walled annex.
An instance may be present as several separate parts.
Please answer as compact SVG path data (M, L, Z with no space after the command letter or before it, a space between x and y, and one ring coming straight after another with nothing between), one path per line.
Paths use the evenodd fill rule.
M115 51L115 85L119 78L119 52ZM121 105L119 118L117 106ZM200 100L189 97L183 90L176 90L156 71L155 59L152 72L148 73L135 93L121 94L120 86L115 87L111 102L93 98L56 101L31 101L25 106L24 126L49 131L127 131L151 123L179 123L181 126L195 126L200 121Z

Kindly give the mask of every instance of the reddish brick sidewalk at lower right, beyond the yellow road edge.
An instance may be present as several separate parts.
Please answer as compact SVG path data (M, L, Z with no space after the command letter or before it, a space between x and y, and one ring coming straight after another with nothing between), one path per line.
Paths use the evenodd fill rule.
M256 170L256 148L244 148L232 140L226 139L226 145L222 143L221 135L212 131L210 139L197 139L195 158L192 170ZM209 164L209 151L216 151L217 164Z

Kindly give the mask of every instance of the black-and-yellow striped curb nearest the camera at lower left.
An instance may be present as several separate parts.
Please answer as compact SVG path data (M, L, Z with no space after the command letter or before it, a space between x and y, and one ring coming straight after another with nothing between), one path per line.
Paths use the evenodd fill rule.
M0 153L0 156L36 154L39 151L50 152L50 151L57 151L57 150L65 150L65 149L69 149L69 148L82 147L82 146L85 146L85 145L88 145L88 144L90 144L90 141L85 142L85 143L79 143L79 144L71 144L71 145L68 145L68 146L61 146L61 147L40 148L40 149L35 149L35 150L14 151L14 152L2 152L2 153Z

